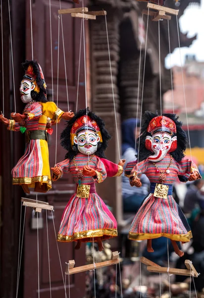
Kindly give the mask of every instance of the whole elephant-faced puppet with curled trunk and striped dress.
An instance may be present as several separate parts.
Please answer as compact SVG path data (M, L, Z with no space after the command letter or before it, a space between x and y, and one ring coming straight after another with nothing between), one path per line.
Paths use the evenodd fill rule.
M184 159L187 136L175 114L145 112L140 135L139 163L130 162L125 175L131 186L141 187L140 177L146 174L151 182L150 194L141 204L130 228L129 239L148 240L161 236L171 239L175 252L183 256L176 241L190 241L192 233L180 207L172 196L172 184L178 176L189 181L201 178L193 161ZM182 179L180 179L182 180ZM184 179L185 181L185 179Z

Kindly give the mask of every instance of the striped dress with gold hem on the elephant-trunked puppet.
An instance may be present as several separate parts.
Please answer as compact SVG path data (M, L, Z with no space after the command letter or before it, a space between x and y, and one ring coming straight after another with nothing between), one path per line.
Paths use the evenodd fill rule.
M156 162L159 169L165 170L170 162L170 154ZM172 185L178 175L186 175L197 169L196 165L189 159L183 159L177 162L174 159L169 167L170 173L166 173L164 184ZM136 165L132 173L138 170L138 177L142 173L146 174L151 183L159 183L160 173L156 172L153 162L148 159L143 160ZM180 207L176 204L172 195L167 199L157 198L150 193L141 204L129 232L129 239L145 240L158 237L167 237L171 240L188 242L192 237L190 227L182 213Z

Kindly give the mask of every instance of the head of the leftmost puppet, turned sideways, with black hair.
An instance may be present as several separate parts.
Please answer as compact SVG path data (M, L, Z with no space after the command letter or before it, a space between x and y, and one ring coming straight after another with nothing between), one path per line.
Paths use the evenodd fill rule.
M35 60L26 60L22 67L25 74L20 84L21 100L24 103L31 100L47 102L47 86L40 65Z

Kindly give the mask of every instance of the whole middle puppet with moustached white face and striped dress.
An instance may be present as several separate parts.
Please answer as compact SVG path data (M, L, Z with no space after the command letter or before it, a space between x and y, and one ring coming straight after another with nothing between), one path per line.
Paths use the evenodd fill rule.
M102 199L95 184L107 176L120 176L125 160L115 164L106 159L104 151L110 135L104 122L89 109L80 110L61 133L61 145L67 150L65 159L51 168L53 180L70 172L76 183L76 192L69 200L60 224L57 240L62 242L98 241L117 236L117 223Z

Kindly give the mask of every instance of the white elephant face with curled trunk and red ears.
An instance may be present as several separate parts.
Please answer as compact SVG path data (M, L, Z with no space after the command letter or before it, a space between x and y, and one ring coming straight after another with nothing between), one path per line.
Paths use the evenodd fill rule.
M167 152L172 152L177 147L177 137L171 137L167 133L156 133L153 136L147 136L145 141L146 148L154 152L154 155L148 157L151 161L159 161L164 158ZM174 147L174 148L173 148Z

